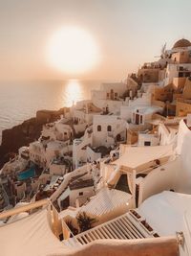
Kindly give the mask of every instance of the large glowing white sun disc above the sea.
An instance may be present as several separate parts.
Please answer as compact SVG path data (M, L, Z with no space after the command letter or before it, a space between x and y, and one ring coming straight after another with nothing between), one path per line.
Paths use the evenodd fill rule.
M94 37L73 26L55 32L48 44L49 62L54 68L68 74L93 69L99 60L98 52Z

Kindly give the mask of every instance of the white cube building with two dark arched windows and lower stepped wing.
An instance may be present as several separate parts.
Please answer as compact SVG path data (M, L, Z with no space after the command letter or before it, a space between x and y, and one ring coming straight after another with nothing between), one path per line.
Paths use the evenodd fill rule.
M84 136L74 139L73 163L77 168L109 153L109 147L126 141L127 123L115 115L95 115L93 126Z

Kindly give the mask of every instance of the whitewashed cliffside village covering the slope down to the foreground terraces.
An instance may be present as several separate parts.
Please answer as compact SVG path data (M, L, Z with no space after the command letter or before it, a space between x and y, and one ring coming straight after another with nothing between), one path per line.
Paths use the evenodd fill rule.
M32 221L51 216L44 232L54 253L60 244L69 255L105 239L108 247L121 240L144 248L148 239L148 255L191 255L190 147L191 42L182 38L126 81L102 83L3 166L0 241L10 230L19 251ZM82 227L79 217L92 225ZM36 234L47 255L38 232L33 243ZM167 243L161 254L157 240ZM30 251L32 241L24 246Z

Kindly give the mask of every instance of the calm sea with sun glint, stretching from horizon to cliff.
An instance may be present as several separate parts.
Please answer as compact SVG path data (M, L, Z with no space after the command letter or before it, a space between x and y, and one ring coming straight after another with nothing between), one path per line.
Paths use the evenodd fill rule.
M57 110L90 99L101 81L1 81L0 142L2 130L35 116L37 110Z

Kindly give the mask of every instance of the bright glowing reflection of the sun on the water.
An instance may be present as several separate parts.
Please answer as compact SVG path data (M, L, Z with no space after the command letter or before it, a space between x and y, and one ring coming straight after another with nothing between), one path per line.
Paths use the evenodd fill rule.
M63 86L62 98L65 106L74 105L83 98L81 84L77 80L70 80Z

